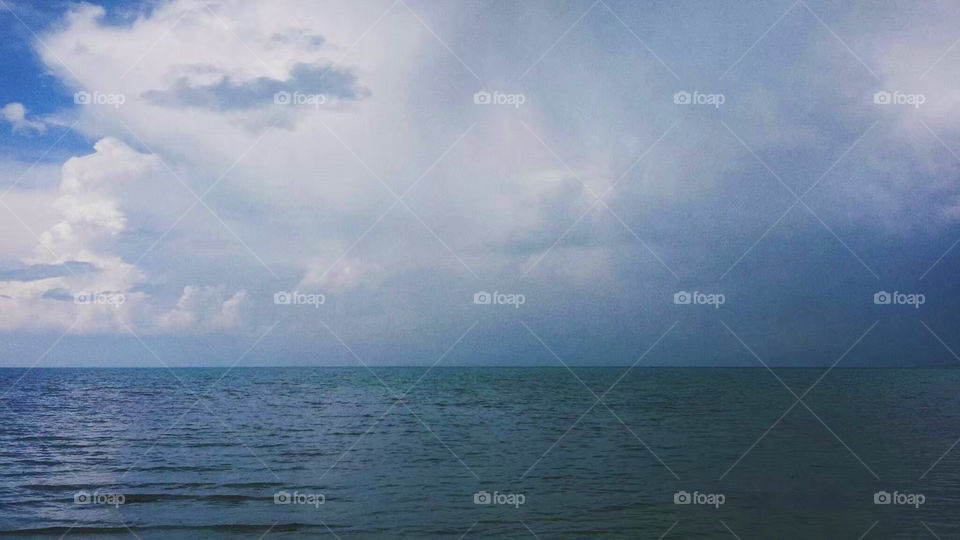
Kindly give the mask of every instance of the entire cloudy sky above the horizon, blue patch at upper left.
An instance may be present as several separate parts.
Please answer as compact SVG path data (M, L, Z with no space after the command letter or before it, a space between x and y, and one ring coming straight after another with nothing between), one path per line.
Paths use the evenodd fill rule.
M958 28L0 0L0 366L954 366Z

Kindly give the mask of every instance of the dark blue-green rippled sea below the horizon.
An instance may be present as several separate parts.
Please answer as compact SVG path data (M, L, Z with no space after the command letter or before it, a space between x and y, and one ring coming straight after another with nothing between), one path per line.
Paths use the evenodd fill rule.
M575 372L599 396L625 369ZM592 409L562 367L224 371L0 370L3 391L23 376L0 407L3 536L960 534L960 445L931 469L960 438L958 370L836 369L772 429L796 398L763 369L638 368ZM776 373L801 395L823 370Z

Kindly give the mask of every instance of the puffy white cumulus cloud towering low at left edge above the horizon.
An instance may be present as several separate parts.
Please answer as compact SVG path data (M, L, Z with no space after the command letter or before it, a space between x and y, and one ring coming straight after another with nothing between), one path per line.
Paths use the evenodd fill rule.
M33 253L0 271L0 329L78 333L177 333L236 327L244 291L216 300L221 288L187 286L172 309L144 292L147 273L118 253L117 240L164 214L156 156L106 138L94 153L62 167L52 206L59 221L39 235ZM129 219L127 210L138 212ZM166 210L170 210L167 208ZM170 212L166 212L169 214ZM169 217L167 217L169 219Z

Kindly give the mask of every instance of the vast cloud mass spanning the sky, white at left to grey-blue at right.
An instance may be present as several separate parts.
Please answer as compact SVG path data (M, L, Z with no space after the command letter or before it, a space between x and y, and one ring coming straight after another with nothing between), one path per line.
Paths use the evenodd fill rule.
M873 264L882 257L867 252L893 245L891 230L941 235L956 223L956 160L919 122L960 148L955 60L931 72L924 84L935 90L919 88L931 94L919 111L879 109L875 87L913 88L903 66L914 53L871 57L889 40L858 42L854 11L824 19L880 81L807 10L792 10L748 50L782 8L731 18L729 6L703 7L683 20L624 9L624 22L683 77L678 87L607 13L557 42L569 28L559 8L518 8L529 22L518 35L517 12L412 7L426 30L401 5L387 12L391 5L173 0L116 25L81 4L51 25L36 46L50 72L71 91L127 99L73 109L94 150L65 164L56 190L11 193L44 245L25 248L33 238L24 234L29 242L0 246L17 263L0 275L0 297L17 306L0 310L0 328L62 329L81 317L79 331L123 332L124 323L240 334L283 317L278 331L321 339L317 310L272 304L275 291L299 287L328 295L319 313L335 313L329 320L347 341L440 343L478 314L467 311L470 295L489 289L526 294L524 316L547 341L552 327L620 344L646 331L630 316L651 323L644 328L674 320L675 278L657 257L683 280L709 281L744 254L729 286L754 272L771 276L773 289L801 269L819 276L851 263L863 273L844 246ZM930 19L956 19L929 9ZM950 26L937 27L943 40L921 40L921 56L933 62L946 50ZM691 43L704 54L686 54ZM743 51L723 81L687 80L719 75ZM727 101L720 110L678 107L679 88L722 91ZM526 99L519 108L475 105L480 89ZM280 91L345 106L273 107ZM794 199L758 157L798 193L843 158L805 200L829 231L797 205L764 236ZM54 218L40 220L38 208ZM769 254L776 249L792 264ZM788 284L776 298L805 306L820 285ZM64 301L83 291L126 301Z

